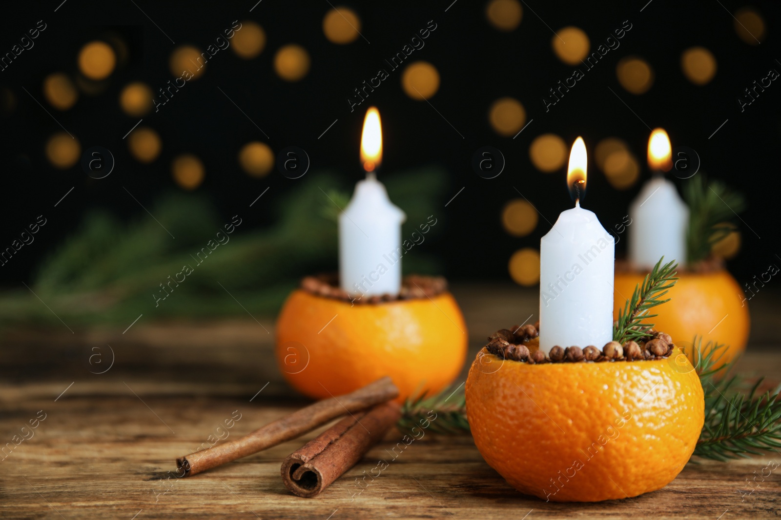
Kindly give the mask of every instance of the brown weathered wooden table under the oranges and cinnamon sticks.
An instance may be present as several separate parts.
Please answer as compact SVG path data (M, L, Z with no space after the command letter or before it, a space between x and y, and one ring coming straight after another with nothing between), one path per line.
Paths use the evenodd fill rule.
M460 285L454 292L469 325L470 359L488 332L536 315L534 293L519 288ZM754 314L753 344L740 368L777 378L781 352L769 348L775 300L755 307L765 309L766 320ZM259 321L273 332L271 317ZM416 440L373 486L353 497L355 478L387 457L385 449L401 437L395 431L314 499L287 492L280 463L320 430L192 478L171 477L174 458L205 442L224 419L241 414L229 430L233 438L305 404L276 370L272 338L249 319L140 321L126 334L99 328L71 334L65 327L3 331L0 440L12 443L30 419L43 414L45 419L33 437L12 443L10 452L6 447L0 515L139 520L781 515L781 469L760 476L769 462L781 463L777 453L726 464L690 463L662 490L598 504L546 503L516 492L483 462L469 436Z

